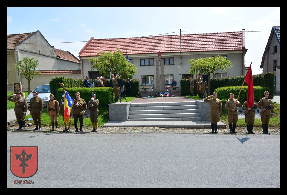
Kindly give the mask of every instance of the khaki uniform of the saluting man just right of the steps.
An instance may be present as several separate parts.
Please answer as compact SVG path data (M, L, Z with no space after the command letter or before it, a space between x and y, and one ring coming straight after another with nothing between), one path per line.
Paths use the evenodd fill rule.
M217 124L219 120L219 113L221 113L222 110L222 104L221 100L216 98L210 98L206 97L203 99L204 102L209 102L210 104L210 109L209 109L209 119L211 121L211 124L215 123Z

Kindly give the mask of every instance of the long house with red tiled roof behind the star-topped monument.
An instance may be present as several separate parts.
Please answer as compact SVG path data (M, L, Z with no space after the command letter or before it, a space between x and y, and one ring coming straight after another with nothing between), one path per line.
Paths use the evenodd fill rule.
M164 77L165 86L171 85L173 79L177 86L182 78L189 78L191 58L199 59L222 55L231 60L233 67L226 72L217 71L212 77L233 77L245 74L244 55L245 30L238 32L220 32L204 34L165 35L135 38L94 39L93 37L79 52L82 78L99 76L99 72L91 70L88 57L98 57L98 52L114 52L119 48L124 55L129 56L138 71L133 79L140 79L141 87L155 85L156 60L160 60L160 77ZM161 56L158 57L158 53ZM93 75L95 77L93 77ZM196 75L193 75L196 78ZM161 80L161 79L159 79Z

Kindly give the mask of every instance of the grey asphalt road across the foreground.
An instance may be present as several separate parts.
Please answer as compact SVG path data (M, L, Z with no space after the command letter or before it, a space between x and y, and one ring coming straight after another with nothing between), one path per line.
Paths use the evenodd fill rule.
M14 184L10 146L39 146L34 184ZM280 188L280 135L8 132L7 187Z

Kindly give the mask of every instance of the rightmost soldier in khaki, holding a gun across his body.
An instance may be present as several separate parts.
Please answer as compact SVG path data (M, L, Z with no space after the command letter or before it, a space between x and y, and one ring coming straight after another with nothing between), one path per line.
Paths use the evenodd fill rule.
M269 106L269 105L273 106L273 104L272 104L271 99L268 98L269 97L269 92L268 91L264 92L264 96L265 97L261 98L260 101L259 101L259 104L257 104L257 105L258 105L258 107L260 109L266 110L261 115L261 122L262 122L263 134L267 134L267 133L269 134L269 132L268 132L268 123L269 123L269 120L271 118L271 108L266 109L264 107Z

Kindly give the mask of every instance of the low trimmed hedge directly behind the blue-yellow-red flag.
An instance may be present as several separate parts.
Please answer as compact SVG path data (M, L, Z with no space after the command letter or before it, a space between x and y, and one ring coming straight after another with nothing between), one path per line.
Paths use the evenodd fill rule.
M76 98L76 91L80 92L80 98L83 98L88 106L88 101L91 100L91 88L87 87L69 87L66 88L68 92ZM114 102L114 91L111 87L95 87L93 93L96 94L97 99L100 101L100 105L107 105ZM57 93L54 94L57 101L61 101L63 95L63 89L57 89Z

